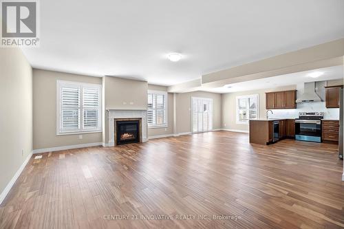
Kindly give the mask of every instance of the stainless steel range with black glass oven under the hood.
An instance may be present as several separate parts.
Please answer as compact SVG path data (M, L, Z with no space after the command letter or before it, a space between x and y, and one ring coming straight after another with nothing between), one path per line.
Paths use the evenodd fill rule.
M295 120L295 139L321 142L321 120L323 112L299 112Z

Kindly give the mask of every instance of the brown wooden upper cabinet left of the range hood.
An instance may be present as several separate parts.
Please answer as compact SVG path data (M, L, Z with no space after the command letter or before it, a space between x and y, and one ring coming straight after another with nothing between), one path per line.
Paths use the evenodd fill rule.
M296 109L297 90L266 93L266 109Z

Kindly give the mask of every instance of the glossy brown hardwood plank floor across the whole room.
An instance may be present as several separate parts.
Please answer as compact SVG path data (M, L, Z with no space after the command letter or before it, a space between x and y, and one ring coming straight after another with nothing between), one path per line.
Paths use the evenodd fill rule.
M218 131L43 153L1 204L0 228L344 228L336 147Z

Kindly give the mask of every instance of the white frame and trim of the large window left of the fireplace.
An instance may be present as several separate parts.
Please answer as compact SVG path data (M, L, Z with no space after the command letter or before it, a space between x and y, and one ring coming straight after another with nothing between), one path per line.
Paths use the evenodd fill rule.
M61 87L64 85L78 86L80 88L80 130L62 131L61 129ZM91 87L97 88L99 91L99 113L98 113L98 128L83 129L83 88ZM102 85L96 83L82 83L66 80L56 80L56 135L76 135L81 133L100 133L103 130L103 103L102 103Z

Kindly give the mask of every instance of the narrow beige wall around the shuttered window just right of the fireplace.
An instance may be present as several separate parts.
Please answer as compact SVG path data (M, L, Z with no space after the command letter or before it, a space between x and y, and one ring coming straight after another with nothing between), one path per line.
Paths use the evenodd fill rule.
M167 91L167 87L158 86L158 85L148 85L149 90L154 91ZM166 128L149 128L148 129L148 137L152 137L155 135L169 135L173 134L173 93L169 93L167 96L167 127Z

